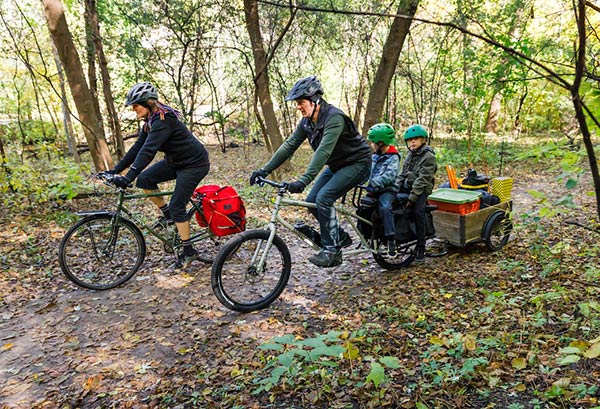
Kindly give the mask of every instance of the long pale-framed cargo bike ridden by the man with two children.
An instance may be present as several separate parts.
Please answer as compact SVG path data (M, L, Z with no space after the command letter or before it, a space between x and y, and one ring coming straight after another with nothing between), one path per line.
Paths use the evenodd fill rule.
M263 185L277 189L268 225L261 229L247 230L231 238L221 247L212 266L211 284L215 296L223 305L239 312L251 312L268 307L279 297L288 283L292 258L288 245L278 234L279 230L292 232L316 251L321 249L316 230L307 229L306 225L294 226L280 213L285 207L314 209L316 204L287 197L288 184L285 182L279 183L260 178L259 186ZM407 237L406 240L398 240L394 255L386 252L385 241L375 234L377 226L373 225L373 220L362 217L356 212L361 197L360 192L362 192L361 186L353 191L353 207L343 203L334 205L340 222L344 221L351 226L359 239L358 245L342 249L343 256L371 253L375 261L387 270L396 270L410 265L416 254L414 236ZM427 207L429 216L436 208L436 206ZM363 231L369 229L370 235L363 234ZM434 234L435 232L430 231L427 237L432 238Z

